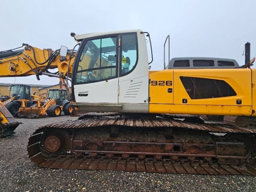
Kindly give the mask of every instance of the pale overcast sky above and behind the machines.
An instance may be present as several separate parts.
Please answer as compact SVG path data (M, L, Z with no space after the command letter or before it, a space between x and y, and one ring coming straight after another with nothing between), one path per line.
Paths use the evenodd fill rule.
M152 2L152 3L151 3ZM256 56L255 0L74 1L2 0L0 50L28 43L38 48L72 49L76 34L126 29L149 32L152 70L163 69L163 44L171 36L172 57L221 57L244 64L244 44ZM255 64L256 65L256 64ZM1 64L0 64L1 70ZM1 83L57 84L41 76L0 78Z

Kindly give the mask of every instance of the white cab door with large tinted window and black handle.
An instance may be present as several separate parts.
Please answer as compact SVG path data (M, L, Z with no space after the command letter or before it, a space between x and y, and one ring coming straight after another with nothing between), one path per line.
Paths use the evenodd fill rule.
M87 38L80 46L73 81L76 102L118 103L118 35Z

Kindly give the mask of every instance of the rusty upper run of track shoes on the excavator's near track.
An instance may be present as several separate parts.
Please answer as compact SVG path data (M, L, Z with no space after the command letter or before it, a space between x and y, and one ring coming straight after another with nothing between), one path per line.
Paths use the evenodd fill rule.
M207 132L238 132L238 133L256 133L256 128L239 127L235 125L227 124L206 124L206 123L190 123L175 119L81 119L81 120L67 120L60 123L48 124L44 127L52 128L84 128L84 127L99 127L107 125L118 126L130 126L130 127L176 127L176 128L188 128L195 130L203 130Z

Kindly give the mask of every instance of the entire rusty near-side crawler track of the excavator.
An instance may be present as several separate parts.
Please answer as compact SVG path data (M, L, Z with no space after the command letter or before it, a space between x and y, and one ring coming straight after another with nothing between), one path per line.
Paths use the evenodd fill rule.
M255 136L232 125L86 116L38 128L27 150L49 168L256 175Z

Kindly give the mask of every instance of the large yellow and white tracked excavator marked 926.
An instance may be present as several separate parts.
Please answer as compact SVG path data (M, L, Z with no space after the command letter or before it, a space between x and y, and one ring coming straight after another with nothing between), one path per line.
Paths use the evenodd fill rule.
M28 141L31 161L49 168L256 175L256 70L249 43L243 66L222 58L170 60L169 51L164 70L149 71L147 32L71 36L79 45L75 61L69 52L55 67L63 69L61 76L72 68L72 113L85 114L39 127ZM35 48L26 46L24 52L33 56ZM22 59L12 62L16 68L26 65ZM5 65L5 73L20 73ZM28 68L24 75L34 73ZM199 115L237 122L241 117L245 123L209 123Z

